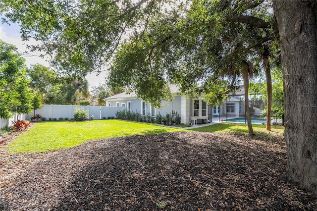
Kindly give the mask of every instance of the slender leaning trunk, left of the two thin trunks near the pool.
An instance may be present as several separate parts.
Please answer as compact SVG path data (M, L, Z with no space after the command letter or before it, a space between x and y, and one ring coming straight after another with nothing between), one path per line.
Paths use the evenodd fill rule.
M249 135L254 135L253 128L252 128L252 122L251 122L251 116L250 116L250 110L249 110L249 65L248 62L243 61L241 63L241 72L243 77L243 85L244 85L244 94L245 94L245 109L246 109L246 117L248 122L248 129L249 129Z

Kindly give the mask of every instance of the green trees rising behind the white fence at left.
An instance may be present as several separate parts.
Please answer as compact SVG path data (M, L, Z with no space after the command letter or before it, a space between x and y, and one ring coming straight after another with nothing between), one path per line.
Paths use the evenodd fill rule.
M104 99L112 92L103 85L93 89L95 96L90 94L83 76L59 77L42 64L27 68L17 48L0 40L0 118L30 113L44 104L90 105L90 98L96 99L98 105L105 105Z

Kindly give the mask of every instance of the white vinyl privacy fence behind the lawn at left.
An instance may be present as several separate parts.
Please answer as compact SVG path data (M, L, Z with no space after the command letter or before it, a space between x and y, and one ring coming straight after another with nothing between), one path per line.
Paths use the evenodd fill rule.
M72 106L72 105L44 105L32 113L22 114L17 116L14 114L10 119L0 119L0 129L11 125L11 121L16 119L30 119L34 114L40 114L47 120L59 118L72 119L75 109L84 109L88 111L88 117L94 115L94 119L103 119L107 117L116 117L117 110L123 110L124 107L109 107L109 106Z

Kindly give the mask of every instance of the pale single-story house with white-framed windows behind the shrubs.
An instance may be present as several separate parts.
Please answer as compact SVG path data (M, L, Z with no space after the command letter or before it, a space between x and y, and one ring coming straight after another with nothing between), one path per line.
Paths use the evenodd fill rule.
M137 99L135 94L126 92L113 95L105 99L106 106L125 107L130 111L138 111L143 115L166 115L166 113L177 112L181 117L182 124L197 124L205 119L228 115L239 117L245 114L244 90L240 89L235 96L229 97L222 106L208 106L203 98L186 98L181 96L177 88L170 88L174 99L171 102L162 102L161 108L156 108L150 103Z

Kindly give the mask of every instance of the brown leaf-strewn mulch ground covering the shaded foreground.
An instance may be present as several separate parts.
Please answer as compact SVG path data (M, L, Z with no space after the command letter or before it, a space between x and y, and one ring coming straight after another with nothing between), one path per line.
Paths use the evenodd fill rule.
M0 210L317 210L285 178L283 138L176 132L17 158L4 147Z

